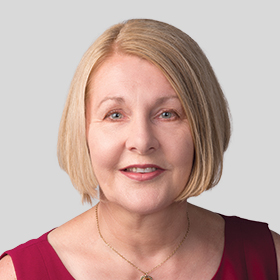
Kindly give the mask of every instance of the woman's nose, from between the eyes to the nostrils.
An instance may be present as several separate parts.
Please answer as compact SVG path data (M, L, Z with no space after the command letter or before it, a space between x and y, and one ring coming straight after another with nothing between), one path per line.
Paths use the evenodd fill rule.
M155 125L147 118L139 118L131 121L126 148L138 154L150 154L159 147L155 135Z

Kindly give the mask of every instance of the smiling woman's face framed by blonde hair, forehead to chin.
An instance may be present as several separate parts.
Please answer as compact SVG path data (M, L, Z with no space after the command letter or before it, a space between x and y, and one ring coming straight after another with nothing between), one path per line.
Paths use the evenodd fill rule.
M102 199L141 213L173 203L188 181L194 145L162 72L116 54L91 76L89 96L87 140Z

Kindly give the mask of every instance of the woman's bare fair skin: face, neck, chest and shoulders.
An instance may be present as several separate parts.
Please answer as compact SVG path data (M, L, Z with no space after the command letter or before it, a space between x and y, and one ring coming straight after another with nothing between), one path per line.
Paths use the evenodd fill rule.
M191 229L154 279L211 279L224 245L224 221L210 211L175 203L192 168L188 120L161 71L135 56L114 55L94 73L87 102L87 139L99 181L100 229L106 241L147 271ZM77 279L140 279L142 273L99 238L95 208L52 231L49 242ZM277 252L280 237L273 233ZM188 264L188 265L186 265ZM16 279L11 258L0 279Z

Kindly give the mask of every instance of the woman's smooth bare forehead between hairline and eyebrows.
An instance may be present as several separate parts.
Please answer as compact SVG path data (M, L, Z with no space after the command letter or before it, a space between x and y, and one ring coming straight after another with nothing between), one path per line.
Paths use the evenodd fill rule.
M131 55L115 55L94 71L88 94L102 99L127 92L160 92L161 97L177 96L163 72L151 62ZM100 94L99 94L100 93Z

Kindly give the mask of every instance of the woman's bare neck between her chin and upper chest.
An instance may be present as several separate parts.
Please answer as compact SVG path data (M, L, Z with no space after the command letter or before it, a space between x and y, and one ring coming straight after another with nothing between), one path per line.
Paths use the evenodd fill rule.
M147 258L162 252L170 254L184 237L187 228L186 202L146 215L132 213L121 206L100 202L98 223L104 240L123 254Z

